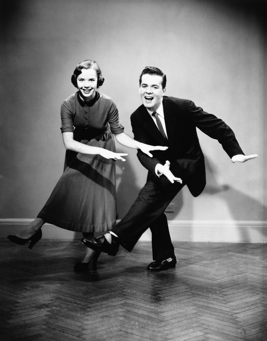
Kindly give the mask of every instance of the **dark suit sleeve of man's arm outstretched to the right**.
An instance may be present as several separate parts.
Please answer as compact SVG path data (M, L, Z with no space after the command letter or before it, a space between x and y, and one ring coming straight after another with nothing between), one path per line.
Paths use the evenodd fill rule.
M192 123L209 137L218 140L230 158L237 154L245 155L234 132L222 119L203 111L192 101L188 101L187 110Z

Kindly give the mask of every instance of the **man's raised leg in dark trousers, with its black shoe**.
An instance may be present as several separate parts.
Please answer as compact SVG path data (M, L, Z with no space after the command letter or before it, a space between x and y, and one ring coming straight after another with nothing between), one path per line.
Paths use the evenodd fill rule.
M106 252L112 256L116 255L119 244L129 252L132 251L143 232L163 214L165 208L183 186L184 184L179 182L172 184L165 177L147 181L128 213L111 229L111 233L93 239L82 238L82 242L88 248ZM166 228L168 228L167 225ZM158 235L158 242L163 245L165 243L164 232L163 226L162 234L159 231ZM173 255L171 248L168 252Z

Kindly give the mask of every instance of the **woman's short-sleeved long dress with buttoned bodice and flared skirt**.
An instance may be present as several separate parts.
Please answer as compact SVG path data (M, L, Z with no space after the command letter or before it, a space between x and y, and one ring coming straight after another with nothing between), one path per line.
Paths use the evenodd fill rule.
M61 105L61 132L74 139L115 152L113 134L124 131L118 110L106 95L96 92L85 103L79 91ZM37 215L46 223L78 232L105 232L116 221L115 161L100 155L66 151L64 173Z

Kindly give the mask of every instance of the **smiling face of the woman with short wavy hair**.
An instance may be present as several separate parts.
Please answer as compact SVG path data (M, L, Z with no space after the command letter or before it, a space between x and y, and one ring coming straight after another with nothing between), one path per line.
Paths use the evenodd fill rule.
M82 73L77 77L77 87L88 100L92 100L98 86L98 75L92 68L82 69Z

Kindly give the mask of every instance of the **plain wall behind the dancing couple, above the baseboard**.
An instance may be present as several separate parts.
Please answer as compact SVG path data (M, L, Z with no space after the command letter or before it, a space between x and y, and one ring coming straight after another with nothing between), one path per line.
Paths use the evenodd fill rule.
M256 160L232 164L221 145L199 132L207 186L198 198L184 188L168 220L265 221L263 181L263 2L82 1L2 2L2 114L0 217L34 218L63 171L60 105L76 89L76 64L95 59L100 88L119 109L132 136L130 115L141 104L138 78L146 65L167 75L166 95L190 99L234 130ZM265 71L265 73L264 73ZM121 218L147 172L136 151L117 162Z

